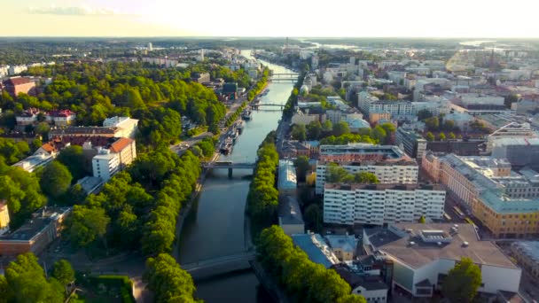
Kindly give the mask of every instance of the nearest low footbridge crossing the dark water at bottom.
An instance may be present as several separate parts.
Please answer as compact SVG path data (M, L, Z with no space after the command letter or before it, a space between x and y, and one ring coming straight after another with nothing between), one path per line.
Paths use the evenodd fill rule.
M181 267L189 272L193 280L201 280L211 276L219 276L230 272L251 268L249 261L255 259L254 251L217 257L209 260L181 264Z

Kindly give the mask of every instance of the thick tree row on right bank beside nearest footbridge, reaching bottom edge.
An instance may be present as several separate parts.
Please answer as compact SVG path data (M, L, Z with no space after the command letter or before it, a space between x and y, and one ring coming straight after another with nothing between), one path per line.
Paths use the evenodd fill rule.
M362 296L350 293L350 285L337 272L309 260L278 226L262 230L256 252L262 266L294 301L366 302Z

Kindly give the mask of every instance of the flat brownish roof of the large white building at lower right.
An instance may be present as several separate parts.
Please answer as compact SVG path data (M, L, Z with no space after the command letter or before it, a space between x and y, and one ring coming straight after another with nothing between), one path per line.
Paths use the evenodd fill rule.
M451 223L398 223L388 229L364 229L371 245L411 268L421 268L435 260L460 260L468 257L475 263L502 268L517 267L490 241L480 241L475 227L460 224L457 233ZM431 241L420 237L425 230L442 232L445 237ZM428 242L426 242L428 241ZM413 242L413 245L411 244Z

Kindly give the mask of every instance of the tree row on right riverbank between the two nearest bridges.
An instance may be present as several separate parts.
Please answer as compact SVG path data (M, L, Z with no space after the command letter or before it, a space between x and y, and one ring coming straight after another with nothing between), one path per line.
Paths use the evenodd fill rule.
M274 131L269 133L257 151L253 181L247 194L247 213L258 226L269 226L277 215L278 191L275 181L279 156L275 136Z

